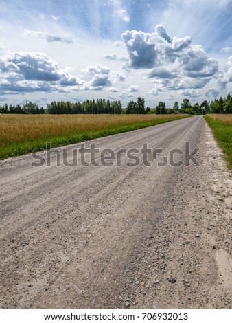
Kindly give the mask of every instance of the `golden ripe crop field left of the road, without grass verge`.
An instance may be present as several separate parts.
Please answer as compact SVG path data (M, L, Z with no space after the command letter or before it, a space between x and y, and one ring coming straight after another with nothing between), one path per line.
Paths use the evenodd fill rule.
M100 131L184 115L0 115L0 144Z

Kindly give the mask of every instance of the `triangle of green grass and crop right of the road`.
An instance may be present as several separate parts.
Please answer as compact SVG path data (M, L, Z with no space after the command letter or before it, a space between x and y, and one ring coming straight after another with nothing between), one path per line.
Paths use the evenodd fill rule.
M205 115L232 172L232 115Z

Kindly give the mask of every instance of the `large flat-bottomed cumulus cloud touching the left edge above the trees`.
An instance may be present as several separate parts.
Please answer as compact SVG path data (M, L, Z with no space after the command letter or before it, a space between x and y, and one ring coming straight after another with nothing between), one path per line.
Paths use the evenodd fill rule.
M82 82L60 70L58 64L43 53L14 52L0 57L2 91L59 91L62 87L82 85Z

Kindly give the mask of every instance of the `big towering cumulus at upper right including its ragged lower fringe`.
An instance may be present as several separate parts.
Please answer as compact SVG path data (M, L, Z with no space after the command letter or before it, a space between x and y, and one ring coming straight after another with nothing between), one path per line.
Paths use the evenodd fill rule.
M129 67L147 69L146 76L154 80L170 80L170 89L187 89L189 85L197 89L218 77L217 61L209 58L202 46L192 45L189 36L170 36L163 25L157 25L153 33L127 30L121 39L128 51Z

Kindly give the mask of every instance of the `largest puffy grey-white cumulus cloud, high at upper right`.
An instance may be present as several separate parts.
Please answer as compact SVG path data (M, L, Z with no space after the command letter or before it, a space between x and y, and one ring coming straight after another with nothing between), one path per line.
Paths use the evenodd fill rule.
M127 30L121 38L130 56L130 66L134 69L159 67L152 71L155 77L163 73L172 78L167 65L174 64L190 77L211 77L218 71L216 60L208 58L200 45L191 45L189 37L172 38L163 25L157 25L152 34Z

